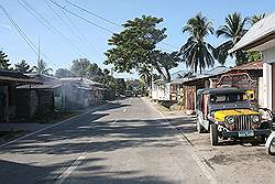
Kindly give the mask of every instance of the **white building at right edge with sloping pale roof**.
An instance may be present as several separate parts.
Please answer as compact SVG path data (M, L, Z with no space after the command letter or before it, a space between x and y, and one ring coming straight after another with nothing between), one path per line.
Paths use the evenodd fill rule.
M255 23L229 52L238 50L262 52L263 105L275 112L275 13Z

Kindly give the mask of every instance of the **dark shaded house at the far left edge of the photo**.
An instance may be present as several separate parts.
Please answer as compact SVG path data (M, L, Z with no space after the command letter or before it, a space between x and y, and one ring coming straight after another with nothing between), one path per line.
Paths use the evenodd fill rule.
M0 122L15 120L24 111L29 104L16 87L32 84L40 82L19 72L0 71Z

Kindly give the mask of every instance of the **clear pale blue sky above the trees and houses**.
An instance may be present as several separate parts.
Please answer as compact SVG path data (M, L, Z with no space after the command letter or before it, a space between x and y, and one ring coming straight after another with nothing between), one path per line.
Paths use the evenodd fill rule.
M48 2L50 7L46 2ZM67 10L85 18L87 23L79 18L65 13L61 8L51 3L50 0L0 0L0 4L7 10L10 18L19 25L25 35L37 47L40 42L41 57L48 67L69 68L72 61L79 57L88 57L90 62L97 63L102 68L106 66L105 52L110 48L108 39L111 32L122 31L121 26L108 23L95 15L80 11L69 6L65 0L54 0ZM243 17L251 17L258 13L273 13L275 1L272 0L69 0L97 15L116 22L124 23L127 20L145 15L163 18L164 21L158 28L166 28L167 39L165 43L157 45L158 48L173 52L177 51L187 40L188 34L183 34L182 29L187 20L201 12L212 22L215 29L224 23L224 18L232 12L240 12ZM42 24L33 14L22 6L24 2L31 4L43 19L48 22ZM26 7L26 6L25 6ZM55 12L57 14L55 14ZM66 23L64 23L61 17ZM103 29L96 26L100 25ZM107 31L108 30L108 31ZM111 32L109 32L111 31ZM0 10L0 50L9 55L12 64L25 59L30 65L37 62L36 53L20 36L9 19ZM224 39L217 39L209 35L206 40L213 46L224 42ZM168 44L168 45L167 45ZM233 65L233 59L228 59L228 66ZM186 69L184 63L173 68L173 72ZM117 74L116 77L135 78L133 74Z

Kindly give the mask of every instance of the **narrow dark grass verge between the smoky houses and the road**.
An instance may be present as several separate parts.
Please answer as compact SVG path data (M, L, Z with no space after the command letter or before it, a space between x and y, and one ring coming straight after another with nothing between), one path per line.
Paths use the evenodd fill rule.
M37 116L34 118L34 121L37 123L56 123L79 113L78 111L54 111L44 116Z

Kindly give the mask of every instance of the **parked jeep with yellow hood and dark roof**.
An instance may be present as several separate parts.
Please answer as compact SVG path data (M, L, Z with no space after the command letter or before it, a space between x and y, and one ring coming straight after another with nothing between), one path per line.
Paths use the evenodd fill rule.
M265 140L271 134L273 117L267 109L254 109L246 90L210 88L197 94L197 130L209 131L212 145L219 138Z

